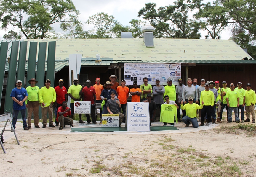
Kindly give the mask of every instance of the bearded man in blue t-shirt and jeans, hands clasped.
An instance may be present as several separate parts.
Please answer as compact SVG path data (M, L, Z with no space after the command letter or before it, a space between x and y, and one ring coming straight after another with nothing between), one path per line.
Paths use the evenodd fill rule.
M13 100L13 113L12 113L12 126L16 128L16 122L19 112L21 112L22 122L23 122L23 129L29 130L27 126L27 119L26 119L26 99L28 98L27 90L24 89L22 86L22 81L17 80L16 87L12 89L11 97Z

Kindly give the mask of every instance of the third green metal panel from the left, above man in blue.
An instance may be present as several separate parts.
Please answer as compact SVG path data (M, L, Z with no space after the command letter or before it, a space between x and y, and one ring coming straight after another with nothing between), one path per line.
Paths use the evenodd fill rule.
M27 46L28 46L28 41L20 42L17 80L22 81L23 87L25 87L25 68L26 68Z

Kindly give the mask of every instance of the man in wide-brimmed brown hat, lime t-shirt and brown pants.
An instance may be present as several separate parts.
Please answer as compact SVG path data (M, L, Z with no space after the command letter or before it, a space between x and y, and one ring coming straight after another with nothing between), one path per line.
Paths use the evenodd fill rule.
M28 83L30 84L30 86L28 86L26 88L27 92L28 92L28 99L26 99L26 107L28 108L28 128L31 128L31 117L32 114L34 114L34 126L35 128L40 128L38 123L39 123L39 106L41 106L41 104L39 104L39 87L36 86L36 79L35 78L31 78Z

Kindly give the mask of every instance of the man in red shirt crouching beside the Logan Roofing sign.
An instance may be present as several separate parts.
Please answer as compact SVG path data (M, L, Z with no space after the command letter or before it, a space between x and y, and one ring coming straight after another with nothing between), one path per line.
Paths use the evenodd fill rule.
M69 118L68 116L71 115L71 109L67 107L67 102L63 101L62 106L58 108L57 118L56 120L60 123L59 130L62 130L65 125L73 126L73 119Z

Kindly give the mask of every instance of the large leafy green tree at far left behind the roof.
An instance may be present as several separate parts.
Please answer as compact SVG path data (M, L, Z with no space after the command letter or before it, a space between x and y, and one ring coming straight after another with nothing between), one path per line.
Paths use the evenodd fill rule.
M51 25L78 14L71 0L0 0L1 29L17 27L27 39L43 39Z

